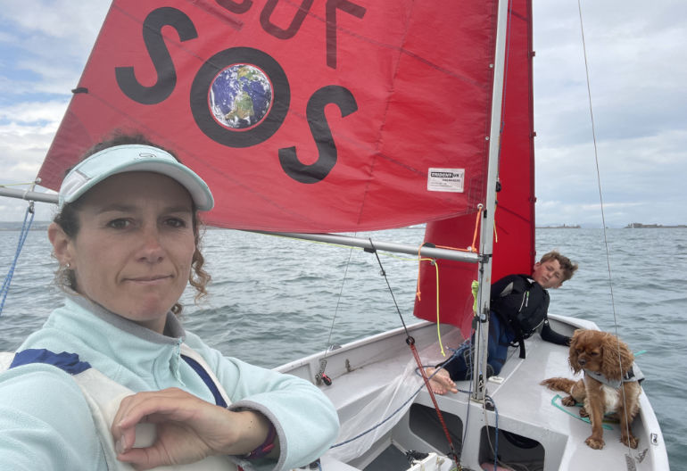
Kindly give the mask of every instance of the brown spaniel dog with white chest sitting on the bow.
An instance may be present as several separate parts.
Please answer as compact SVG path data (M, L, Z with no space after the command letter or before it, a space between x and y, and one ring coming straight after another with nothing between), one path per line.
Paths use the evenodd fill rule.
M589 417L592 422L592 434L585 443L596 450L603 448L603 416L615 413L620 421L620 442L637 448L630 426L640 409L643 378L639 369L633 368L634 356L627 344L608 332L575 330L568 360L575 373L584 370L584 379L553 377L541 384L570 394L562 400L566 406L584 403L580 416Z

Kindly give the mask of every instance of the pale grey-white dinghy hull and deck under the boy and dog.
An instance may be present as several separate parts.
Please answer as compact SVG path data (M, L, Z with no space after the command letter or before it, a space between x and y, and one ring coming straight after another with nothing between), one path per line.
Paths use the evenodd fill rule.
M550 322L557 332L567 334L575 328L597 328L589 321L554 315ZM434 324L421 322L409 331L424 364L443 358ZM444 345L455 347L462 341L452 326L441 326L441 334ZM327 469L338 469L335 463L345 466L340 469L405 469L411 467L405 456L408 450L442 456L450 451L406 337L403 329L397 329L277 368L317 382L326 360L324 373L332 384L320 387L335 404L342 423L336 444L351 440L327 452ZM604 449L592 450L584 443L591 426L579 417L579 409L562 406L559 394L539 384L551 376L574 377L567 348L534 335L526 341L526 359L519 359L517 349L512 350L501 376L487 382L486 406L470 400L468 381L457 383L457 394L436 396L462 467L480 469L484 464L493 469L493 450L497 450L506 464L521 463L531 470L669 469L663 435L644 392L640 413L633 421L638 448L623 445L618 424L607 423Z

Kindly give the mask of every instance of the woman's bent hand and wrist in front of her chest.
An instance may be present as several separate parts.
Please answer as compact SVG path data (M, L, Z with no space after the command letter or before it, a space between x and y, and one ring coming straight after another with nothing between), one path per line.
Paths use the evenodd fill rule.
M134 448L140 423L157 426L157 438L147 448ZM112 422L117 459L137 469L194 463L211 455L244 455L268 433L269 420L261 413L232 412L178 388L124 398ZM278 454L278 444L275 450Z

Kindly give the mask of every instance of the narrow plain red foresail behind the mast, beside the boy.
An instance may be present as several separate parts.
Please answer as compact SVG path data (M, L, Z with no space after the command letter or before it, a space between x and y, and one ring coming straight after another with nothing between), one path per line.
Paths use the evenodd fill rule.
M511 273L531 273L534 267L534 123L532 95L532 4L510 2L506 79L502 118L499 180L492 280ZM473 244L475 214L427 224L425 241L466 248ZM468 333L472 318L471 284L477 279L474 264L439 260L441 322ZM415 315L436 321L435 267L423 263L421 301Z

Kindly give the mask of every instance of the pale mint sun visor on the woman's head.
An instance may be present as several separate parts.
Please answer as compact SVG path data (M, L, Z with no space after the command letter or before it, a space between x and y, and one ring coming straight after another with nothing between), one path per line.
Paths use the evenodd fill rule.
M203 178L170 153L152 145L116 145L94 153L80 161L62 180L57 209L77 201L105 178L129 171L161 173L176 180L191 194L198 211L210 211L214 199Z

